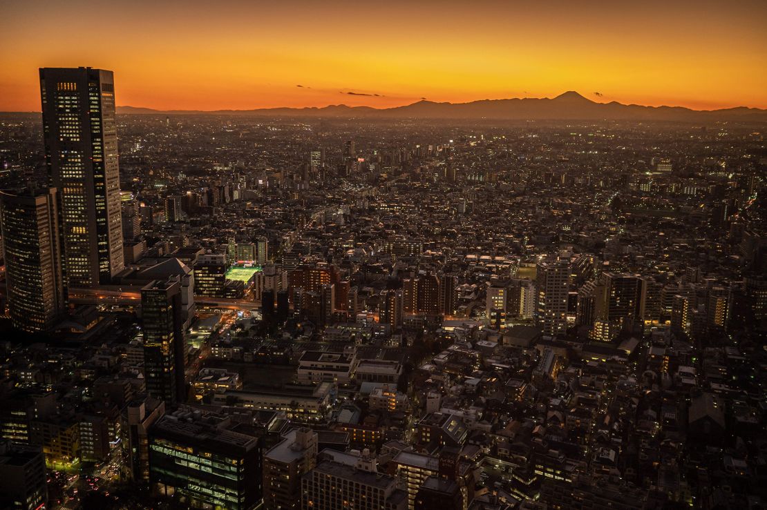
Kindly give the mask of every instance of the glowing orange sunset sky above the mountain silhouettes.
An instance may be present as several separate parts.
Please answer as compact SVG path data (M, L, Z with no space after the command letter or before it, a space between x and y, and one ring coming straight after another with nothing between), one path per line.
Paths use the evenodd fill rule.
M84 65L114 70L117 104L163 110L566 90L767 108L763 0L0 0L0 19L0 111L40 110L38 67Z

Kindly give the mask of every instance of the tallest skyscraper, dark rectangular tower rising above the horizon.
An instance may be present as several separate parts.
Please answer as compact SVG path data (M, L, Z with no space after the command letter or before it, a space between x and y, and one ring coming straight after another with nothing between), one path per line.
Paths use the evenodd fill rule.
M108 70L40 70L45 161L61 192L67 287L110 283L123 269L114 79Z

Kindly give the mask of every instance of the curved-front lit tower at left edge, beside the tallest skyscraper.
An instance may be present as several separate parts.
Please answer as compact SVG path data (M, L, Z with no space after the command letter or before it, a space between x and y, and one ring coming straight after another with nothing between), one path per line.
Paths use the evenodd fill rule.
M66 312L57 200L55 188L0 192L8 309L14 325L28 332L53 328Z

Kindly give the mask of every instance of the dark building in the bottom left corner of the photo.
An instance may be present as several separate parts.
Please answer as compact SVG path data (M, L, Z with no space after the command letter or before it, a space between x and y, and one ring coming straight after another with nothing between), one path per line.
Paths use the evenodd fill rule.
M41 450L0 443L0 508L39 510L48 502Z

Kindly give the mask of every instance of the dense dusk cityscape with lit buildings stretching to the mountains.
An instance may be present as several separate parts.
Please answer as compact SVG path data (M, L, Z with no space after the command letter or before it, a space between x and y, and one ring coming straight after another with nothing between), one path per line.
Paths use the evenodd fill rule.
M40 79L0 114L0 508L767 505L763 122Z

